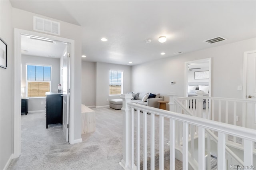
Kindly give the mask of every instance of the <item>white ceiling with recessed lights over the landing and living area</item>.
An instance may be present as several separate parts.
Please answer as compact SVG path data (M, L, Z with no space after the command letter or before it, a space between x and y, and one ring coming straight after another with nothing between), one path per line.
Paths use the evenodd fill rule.
M82 55L87 56L83 61L136 65L256 37L256 1L11 0L11 4L82 26ZM167 41L158 42L159 36ZM204 42L217 36L227 40ZM108 41L100 41L102 37ZM149 38L152 42L145 43Z

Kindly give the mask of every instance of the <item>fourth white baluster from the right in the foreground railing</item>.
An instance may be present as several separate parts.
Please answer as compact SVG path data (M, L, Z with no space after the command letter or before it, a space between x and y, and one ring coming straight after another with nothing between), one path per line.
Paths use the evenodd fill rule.
M182 129L182 169L188 170L188 123L183 122Z

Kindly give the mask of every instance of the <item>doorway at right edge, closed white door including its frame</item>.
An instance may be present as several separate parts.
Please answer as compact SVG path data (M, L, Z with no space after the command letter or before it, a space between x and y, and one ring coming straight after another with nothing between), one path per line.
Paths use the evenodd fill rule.
M256 99L256 50L244 52L243 99ZM246 127L256 129L256 104L246 103Z

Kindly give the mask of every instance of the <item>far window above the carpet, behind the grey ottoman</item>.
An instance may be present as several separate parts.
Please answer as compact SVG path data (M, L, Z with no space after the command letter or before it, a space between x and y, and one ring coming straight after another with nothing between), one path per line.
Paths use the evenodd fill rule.
M109 71L109 95L123 93L123 71Z

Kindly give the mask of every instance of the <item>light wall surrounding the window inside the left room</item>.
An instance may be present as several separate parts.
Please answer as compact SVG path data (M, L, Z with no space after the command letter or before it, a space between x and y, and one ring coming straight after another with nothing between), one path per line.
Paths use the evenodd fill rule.
M58 91L58 84L60 83L60 59L50 57L38 57L31 55L22 55L21 57L21 87L26 87L26 64L35 65L51 65L52 66L52 83L51 90ZM26 88L25 88L26 89ZM25 90L26 92L26 90ZM26 93L22 93L25 97ZM43 102L43 104L42 104ZM42 111L45 110L45 99L28 99L28 111Z

